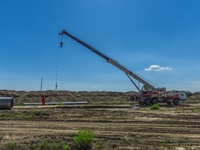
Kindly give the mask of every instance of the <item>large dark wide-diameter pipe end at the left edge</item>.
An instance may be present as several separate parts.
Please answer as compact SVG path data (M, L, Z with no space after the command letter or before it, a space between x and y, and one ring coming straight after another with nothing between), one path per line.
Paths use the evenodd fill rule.
M0 110L10 110L13 108L12 97L0 97Z

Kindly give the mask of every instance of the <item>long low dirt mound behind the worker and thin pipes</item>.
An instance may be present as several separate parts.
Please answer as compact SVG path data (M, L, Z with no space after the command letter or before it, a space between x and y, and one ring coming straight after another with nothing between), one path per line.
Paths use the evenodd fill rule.
M46 97L48 102L77 102L88 101L89 103L121 103L126 102L132 95L138 95L137 92L111 92L111 91L14 91L0 90L0 96L13 97L14 105L22 105L27 102L41 102L42 96Z

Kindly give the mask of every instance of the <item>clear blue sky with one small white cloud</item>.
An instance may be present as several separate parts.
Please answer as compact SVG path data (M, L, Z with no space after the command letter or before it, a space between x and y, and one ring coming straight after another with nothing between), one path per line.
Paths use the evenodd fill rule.
M63 29L167 90L200 89L199 0L1 0L0 89L137 91ZM136 81L138 84L138 82Z

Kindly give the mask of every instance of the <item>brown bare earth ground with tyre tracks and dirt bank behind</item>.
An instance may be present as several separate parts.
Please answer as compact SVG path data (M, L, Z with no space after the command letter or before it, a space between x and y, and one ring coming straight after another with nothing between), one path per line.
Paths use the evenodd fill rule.
M179 106L159 104L159 110L151 110L130 108L138 104L127 100L129 92L7 92L15 92L15 106L0 111L1 149L9 148L11 141L18 143L18 149L40 149L45 139L49 145L57 142L73 148L73 137L82 129L95 133L93 149L200 149L198 93ZM87 100L89 104L19 106L40 102L43 94L49 101Z

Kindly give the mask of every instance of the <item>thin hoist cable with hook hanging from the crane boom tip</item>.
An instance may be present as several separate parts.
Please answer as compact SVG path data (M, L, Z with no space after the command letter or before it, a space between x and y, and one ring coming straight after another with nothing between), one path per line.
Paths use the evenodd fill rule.
M55 91L58 91L58 65L59 65L59 50L62 48L63 36L58 34L58 48L57 48L57 59L56 59L56 84L55 84Z

